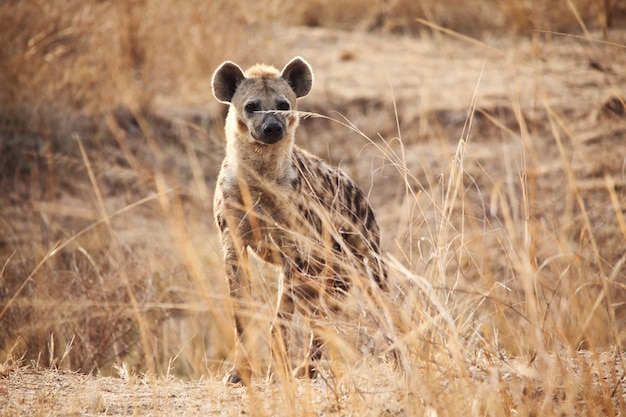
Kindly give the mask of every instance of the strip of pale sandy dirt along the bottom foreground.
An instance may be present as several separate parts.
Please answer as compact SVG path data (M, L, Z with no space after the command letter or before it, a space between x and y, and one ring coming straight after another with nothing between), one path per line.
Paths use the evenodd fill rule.
M573 359L554 357L547 367L565 367L572 375L592 373L598 391L613 404L615 410L626 409L626 373L624 355L606 352L599 358L579 353ZM468 362L472 390L481 397L502 396L489 415L522 415L541 409L542 403L553 403L555 409L568 410L570 415L589 415L588 402L605 401L585 395L569 398L571 381L555 379L546 385L528 363L506 359L496 369L486 358ZM593 364L599 364L595 367ZM446 374L443 369L435 382L441 391L463 389L463 376ZM444 378L443 375L447 376ZM257 380L252 387L227 387L218 378L182 381L173 377L152 378L132 376L120 370L119 377L96 377L75 372L15 368L0 376L0 415L3 416L415 416L446 415L450 404L420 398L423 381L399 376L386 365L362 367L348 377L327 374L312 381L300 380L293 388ZM432 383L432 382L431 382ZM575 384L575 382L574 382ZM560 387L550 399L549 385ZM505 392L496 389L505 387ZM548 399L546 400L546 397ZM484 398L466 397L461 409L473 409ZM472 403L475 405L472 407ZM468 404L470 405L468 407ZM487 407L489 409L490 407ZM608 409L607 404L603 404ZM552 407L548 407L550 409ZM582 411L582 412L581 412ZM587 411L587 412L586 412ZM511 413L512 412L512 413ZM477 415L477 414L474 414Z

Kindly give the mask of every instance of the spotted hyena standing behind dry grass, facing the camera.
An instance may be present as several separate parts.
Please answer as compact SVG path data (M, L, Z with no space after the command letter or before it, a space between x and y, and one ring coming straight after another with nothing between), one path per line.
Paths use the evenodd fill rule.
M242 71L225 62L213 75L215 97L230 105L214 202L237 333L227 383L249 382L256 350L246 338L253 313L249 252L281 270L270 345L283 371L285 326L296 310L309 320L312 339L294 371L299 376L314 376L321 358L316 318L340 310L355 280L370 289L385 287L378 224L363 192L345 173L294 144L297 100L312 85L311 67L299 57L281 72L266 65Z

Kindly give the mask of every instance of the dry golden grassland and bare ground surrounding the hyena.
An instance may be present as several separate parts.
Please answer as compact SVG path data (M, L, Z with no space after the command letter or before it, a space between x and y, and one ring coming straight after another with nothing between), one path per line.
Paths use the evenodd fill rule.
M617 0L2 2L0 415L625 415L625 17ZM391 289L325 323L317 379L277 380L275 273L250 265L259 372L225 387L210 78L295 55L316 77L298 142L368 194Z

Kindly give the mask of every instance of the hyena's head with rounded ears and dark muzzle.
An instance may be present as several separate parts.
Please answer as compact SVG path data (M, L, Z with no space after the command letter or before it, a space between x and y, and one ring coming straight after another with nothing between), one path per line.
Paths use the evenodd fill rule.
M299 57L280 73L267 65L255 65L244 72L226 61L213 74L212 85L215 98L231 105L229 118L234 123L230 128L236 129L237 136L271 145L293 137L298 115L291 110L296 110L296 100L311 90L313 73Z

